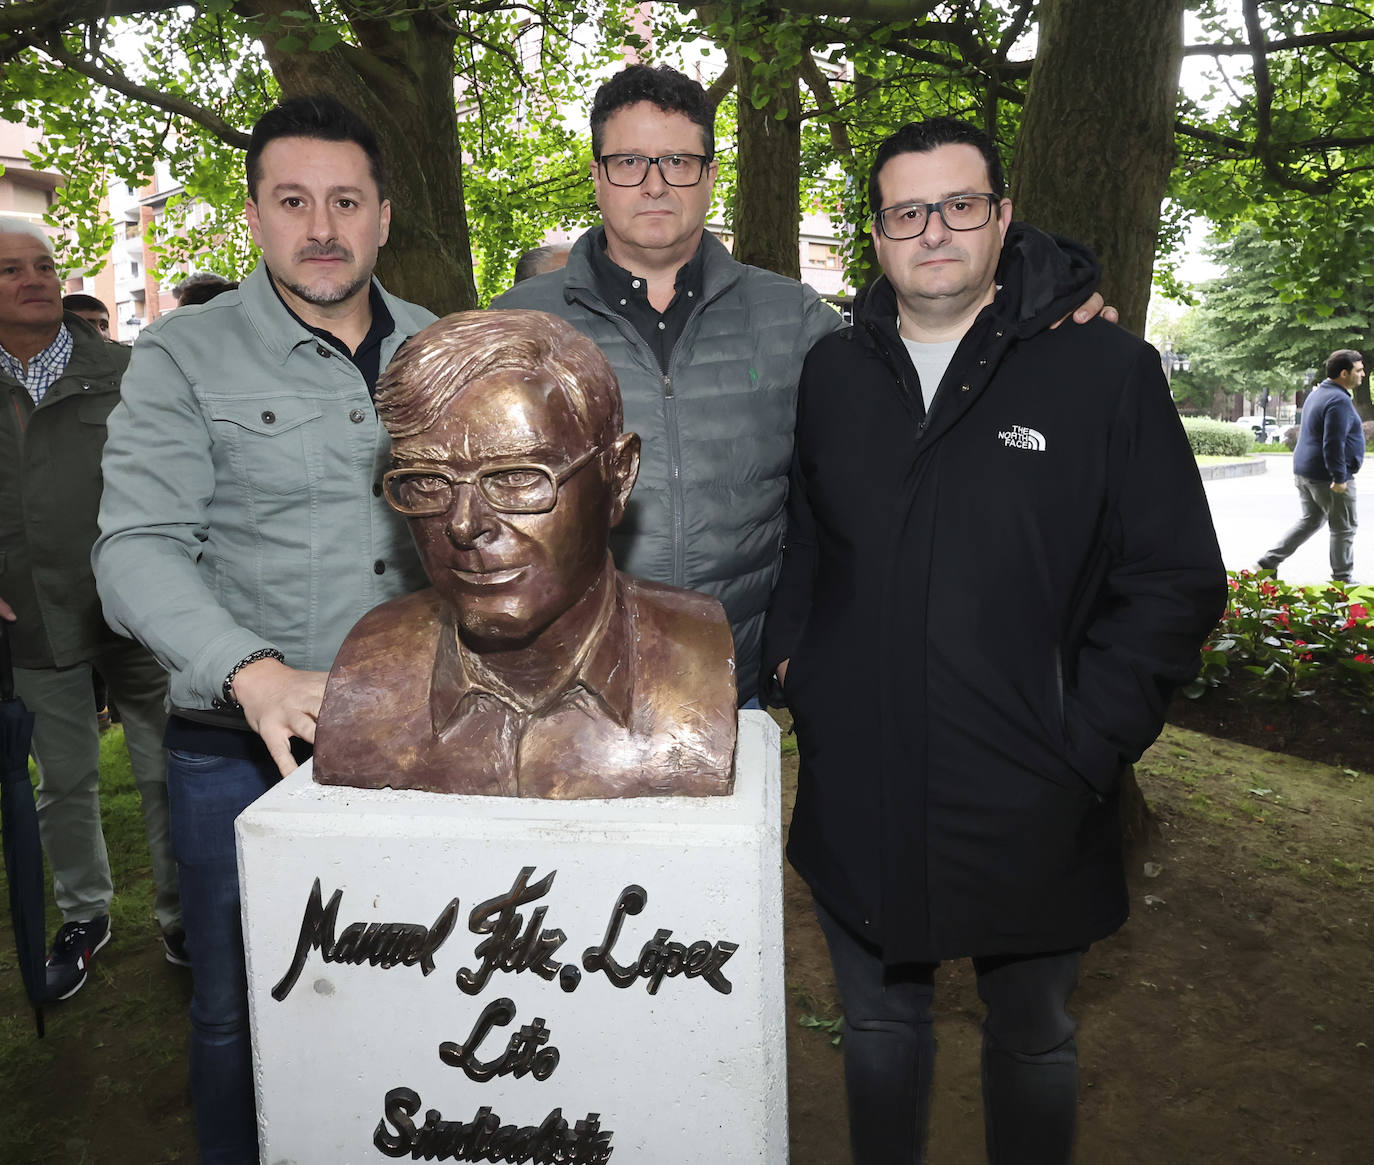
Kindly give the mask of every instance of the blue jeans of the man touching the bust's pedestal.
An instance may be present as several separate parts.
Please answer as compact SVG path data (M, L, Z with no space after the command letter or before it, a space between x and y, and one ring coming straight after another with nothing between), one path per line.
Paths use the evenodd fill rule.
M271 764L168 753L172 850L191 956L191 1105L205 1165L258 1160L234 819L279 779Z

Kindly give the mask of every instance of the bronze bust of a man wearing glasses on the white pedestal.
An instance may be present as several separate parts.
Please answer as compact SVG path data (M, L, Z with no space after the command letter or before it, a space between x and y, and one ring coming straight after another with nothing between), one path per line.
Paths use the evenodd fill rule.
M383 477L433 584L330 672L315 779L502 797L730 793L725 613L616 570L639 471L592 341L543 312L460 312L378 383Z

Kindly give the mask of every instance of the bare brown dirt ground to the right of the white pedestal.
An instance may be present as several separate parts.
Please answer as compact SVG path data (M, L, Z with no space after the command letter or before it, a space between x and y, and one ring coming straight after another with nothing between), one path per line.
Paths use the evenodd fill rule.
M1131 859L1131 920L1090 951L1074 996L1074 1161L1369 1165L1374 776L1182 728L1136 772L1158 830ZM790 868L786 905L791 1162L844 1165L841 1052L801 1026L840 1008ZM987 1160L981 1014L969 964L941 967L932 1165Z

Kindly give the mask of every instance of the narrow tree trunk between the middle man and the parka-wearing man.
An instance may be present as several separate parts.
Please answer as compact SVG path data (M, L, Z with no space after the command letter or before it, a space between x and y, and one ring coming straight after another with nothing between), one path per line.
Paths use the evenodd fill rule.
M801 210L801 96L800 69L768 80L769 100L754 109L754 63L735 54L739 93L739 161L735 199L734 256L801 279L798 236ZM780 92L779 88L780 87ZM779 109L783 117L778 117Z

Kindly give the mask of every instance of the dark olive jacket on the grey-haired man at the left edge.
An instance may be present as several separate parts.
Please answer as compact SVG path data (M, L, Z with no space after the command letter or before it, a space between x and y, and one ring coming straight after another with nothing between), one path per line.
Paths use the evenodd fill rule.
M129 349L80 316L66 371L37 405L0 372L0 598L19 668L69 668L117 640L100 617L91 547L99 529L104 422L120 401Z

